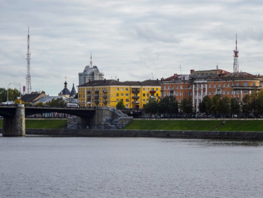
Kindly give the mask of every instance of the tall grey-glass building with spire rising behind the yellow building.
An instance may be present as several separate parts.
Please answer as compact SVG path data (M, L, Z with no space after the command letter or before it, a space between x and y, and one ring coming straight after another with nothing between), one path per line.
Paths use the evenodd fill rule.
M97 66L92 66L92 55L90 55L90 65L86 66L82 73L79 73L79 85L93 80L103 80L104 74L99 72Z

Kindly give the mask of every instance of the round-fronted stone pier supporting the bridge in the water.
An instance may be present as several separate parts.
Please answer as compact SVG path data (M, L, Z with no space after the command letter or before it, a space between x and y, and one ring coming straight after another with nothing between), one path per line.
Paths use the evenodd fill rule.
M18 104L14 117L3 118L3 136L25 136L25 106Z

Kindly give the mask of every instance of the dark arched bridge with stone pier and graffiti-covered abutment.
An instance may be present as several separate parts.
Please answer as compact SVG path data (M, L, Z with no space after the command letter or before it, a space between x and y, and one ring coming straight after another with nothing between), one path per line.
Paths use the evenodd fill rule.
M3 116L3 136L25 136L25 116L57 112L78 116L82 128L103 128L114 124L122 127L132 120L114 108L40 108L17 106L0 106L0 116ZM112 126L114 127L114 126Z

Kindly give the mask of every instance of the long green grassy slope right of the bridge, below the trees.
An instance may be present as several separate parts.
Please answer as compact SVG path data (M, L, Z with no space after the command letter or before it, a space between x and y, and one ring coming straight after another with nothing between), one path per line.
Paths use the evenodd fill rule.
M263 121L143 121L130 122L123 129L250 131L263 132Z

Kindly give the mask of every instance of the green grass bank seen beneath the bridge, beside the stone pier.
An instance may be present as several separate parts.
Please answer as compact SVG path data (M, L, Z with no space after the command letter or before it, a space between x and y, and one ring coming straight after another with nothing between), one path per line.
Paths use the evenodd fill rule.
M42 120L25 120L25 128L27 129L65 129L67 121L60 119L42 119ZM0 127L3 127L3 120L0 120Z

